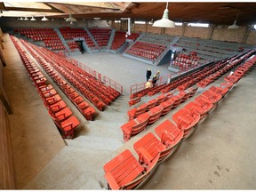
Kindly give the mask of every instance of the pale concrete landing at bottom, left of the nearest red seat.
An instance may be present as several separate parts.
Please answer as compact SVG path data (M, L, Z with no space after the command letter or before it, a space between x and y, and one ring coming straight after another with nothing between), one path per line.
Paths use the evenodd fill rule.
M23 189L104 189L109 151L65 147Z

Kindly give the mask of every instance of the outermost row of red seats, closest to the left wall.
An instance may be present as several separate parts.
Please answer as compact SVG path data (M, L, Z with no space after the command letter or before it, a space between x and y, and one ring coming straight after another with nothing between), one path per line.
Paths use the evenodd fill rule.
M44 102L45 108L48 109L49 115L57 125L58 130L63 138L72 139L74 130L80 124L76 116L72 116L72 111L67 107L67 104L60 98L60 95L53 89L52 84L46 84L46 78L36 67L36 64L31 60L15 39L11 36L12 42L20 53L20 59L24 67L28 71L28 76L36 86L36 91L39 93Z

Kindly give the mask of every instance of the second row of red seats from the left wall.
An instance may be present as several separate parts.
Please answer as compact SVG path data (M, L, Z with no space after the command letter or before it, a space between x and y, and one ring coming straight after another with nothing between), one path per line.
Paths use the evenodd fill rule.
M37 54L35 49L31 48L29 44L25 41L21 41L24 46L27 47L29 52L36 58L38 63L44 68L44 71L51 76L52 80L60 87L62 92L64 92L68 99L73 102L76 108L81 112L81 114L87 119L92 120L96 115L96 111L92 108L88 102L84 100L81 95L76 92L45 60L41 59Z

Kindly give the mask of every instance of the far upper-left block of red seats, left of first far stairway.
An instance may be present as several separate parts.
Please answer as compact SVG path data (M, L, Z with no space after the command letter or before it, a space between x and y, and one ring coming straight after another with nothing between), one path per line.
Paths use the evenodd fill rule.
M53 28L15 28L14 33L20 33L34 41L43 41L45 46L52 51L66 50Z

